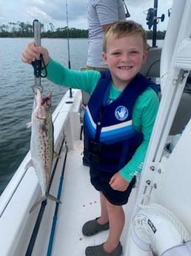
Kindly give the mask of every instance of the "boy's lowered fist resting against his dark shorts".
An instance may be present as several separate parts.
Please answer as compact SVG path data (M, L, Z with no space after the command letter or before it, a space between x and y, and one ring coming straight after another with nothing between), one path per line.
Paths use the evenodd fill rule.
M109 184L114 190L125 191L130 183L128 183L127 180L124 180L121 174L117 172L111 177Z

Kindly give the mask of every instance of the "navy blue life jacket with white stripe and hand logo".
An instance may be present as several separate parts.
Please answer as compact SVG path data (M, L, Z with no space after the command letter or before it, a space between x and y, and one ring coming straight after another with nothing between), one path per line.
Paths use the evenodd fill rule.
M84 113L84 157L90 165L115 173L130 161L143 141L143 134L132 125L133 107L138 96L148 86L155 89L155 84L138 73L108 104L110 84L110 71L101 71Z

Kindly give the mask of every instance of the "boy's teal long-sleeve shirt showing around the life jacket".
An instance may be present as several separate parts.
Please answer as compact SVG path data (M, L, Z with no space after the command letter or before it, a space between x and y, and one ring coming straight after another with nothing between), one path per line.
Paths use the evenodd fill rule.
M70 70L64 68L53 59L50 59L50 62L47 65L47 79L51 82L54 82L57 85L81 89L90 94L93 93L100 77L101 74L98 71ZM118 89L111 84L109 100L115 100L120 93L121 91L118 91ZM147 90L144 91L144 93L141 93L141 95L138 96L138 99L136 99L133 108L133 127L136 131L141 131L143 133L144 140L135 151L130 162L119 171L121 176L129 183L142 169L144 157L150 141L150 135L155 122L155 116L158 111L158 105L158 96L152 88L147 88Z

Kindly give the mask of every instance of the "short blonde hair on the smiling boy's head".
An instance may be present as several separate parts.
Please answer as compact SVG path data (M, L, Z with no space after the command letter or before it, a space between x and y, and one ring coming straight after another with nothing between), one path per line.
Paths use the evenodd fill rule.
M110 39L121 39L124 36L140 34L143 38L144 50L147 50L147 33L141 24L133 21L114 22L104 34L103 51L107 52L107 42Z

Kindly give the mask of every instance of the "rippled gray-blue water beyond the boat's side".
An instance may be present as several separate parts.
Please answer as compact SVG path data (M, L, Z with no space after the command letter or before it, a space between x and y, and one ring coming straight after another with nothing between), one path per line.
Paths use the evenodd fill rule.
M30 122L33 107L33 68L21 62L21 51L32 39L0 39L0 194L30 149ZM42 39L50 56L68 66L67 39ZM71 68L86 66L87 39L70 40ZM52 91L53 110L65 88L41 79L44 94Z

